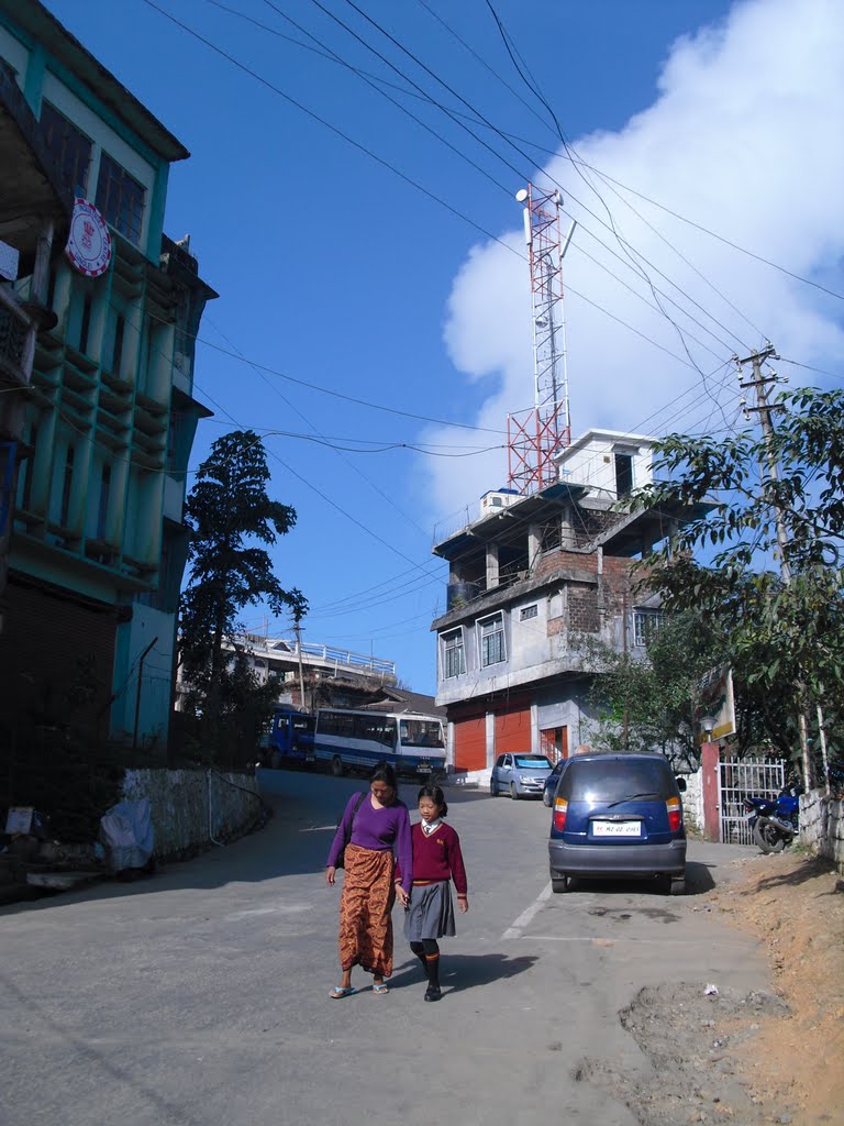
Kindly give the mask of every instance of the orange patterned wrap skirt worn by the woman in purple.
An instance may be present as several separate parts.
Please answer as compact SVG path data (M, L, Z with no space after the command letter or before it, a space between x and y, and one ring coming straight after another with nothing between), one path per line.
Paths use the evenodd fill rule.
M340 966L362 966L369 974L393 973L393 852L358 844L345 848L340 896Z

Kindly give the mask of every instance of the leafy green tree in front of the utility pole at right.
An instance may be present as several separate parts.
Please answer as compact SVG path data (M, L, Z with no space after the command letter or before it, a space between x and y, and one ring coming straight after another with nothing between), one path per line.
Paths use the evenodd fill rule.
M757 725L793 749L805 717L839 698L844 681L844 393L785 391L766 410L767 435L658 444L654 467L668 480L636 503L698 515L640 566L668 611L695 607L722 635ZM839 738L836 713L828 708L827 738Z

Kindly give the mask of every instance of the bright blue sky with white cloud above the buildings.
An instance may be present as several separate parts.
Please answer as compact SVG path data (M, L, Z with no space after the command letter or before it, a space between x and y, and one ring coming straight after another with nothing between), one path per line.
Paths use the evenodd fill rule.
M434 528L505 483L506 412L532 401L513 199L528 179L559 182L580 223L566 258L575 435L734 425L729 357L765 337L828 373L790 365L792 379L841 370L839 300L641 198L842 292L835 0L495 0L577 158L612 180L555 155L486 0L154 0L231 59L145 0L46 2L192 153L172 169L167 231L190 233L221 294L197 351L215 418L194 465L235 426L282 432L266 438L271 493L298 522L273 560L311 602L307 641L371 650L434 689ZM458 124L472 114L486 146ZM262 628L261 609L244 622Z

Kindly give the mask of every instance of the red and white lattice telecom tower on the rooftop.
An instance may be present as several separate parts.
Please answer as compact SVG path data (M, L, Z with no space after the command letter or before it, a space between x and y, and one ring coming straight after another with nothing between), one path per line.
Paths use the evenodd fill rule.
M530 253L533 301L533 409L508 414L510 488L526 495L557 480L551 461L572 440L563 318L563 258L575 224L560 236L559 191L541 193L532 184L517 193L524 204L524 240Z

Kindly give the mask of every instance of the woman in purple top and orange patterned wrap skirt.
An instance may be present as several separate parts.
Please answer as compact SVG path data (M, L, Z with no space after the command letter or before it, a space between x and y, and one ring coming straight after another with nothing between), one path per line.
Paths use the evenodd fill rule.
M395 886L394 850L403 873ZM357 965L372 975L376 995L387 992L384 978L393 973L390 912L396 894L407 901L413 881L407 806L398 799L395 771L386 762L372 771L367 794L349 798L329 852L329 884L334 883L341 854L345 877L340 896L340 984L329 994L335 1001L354 992L351 972Z

